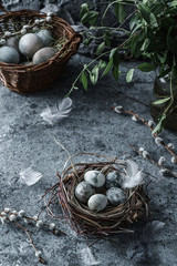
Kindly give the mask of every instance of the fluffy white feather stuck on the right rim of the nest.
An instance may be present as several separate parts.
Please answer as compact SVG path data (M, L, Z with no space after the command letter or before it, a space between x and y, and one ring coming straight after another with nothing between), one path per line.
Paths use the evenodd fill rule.
M126 161L126 170L125 173L122 173L122 180L124 188L133 188L143 184L142 171L138 171L138 165L135 162Z

